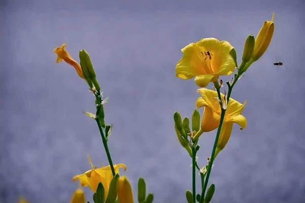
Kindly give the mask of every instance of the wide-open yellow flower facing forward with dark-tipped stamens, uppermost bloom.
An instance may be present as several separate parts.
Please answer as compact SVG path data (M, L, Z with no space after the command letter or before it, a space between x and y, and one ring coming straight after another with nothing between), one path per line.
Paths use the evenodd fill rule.
M181 49L184 54L176 65L176 76L181 79L195 77L200 87L215 82L220 75L234 72L235 62L230 55L233 49L227 41L204 38Z

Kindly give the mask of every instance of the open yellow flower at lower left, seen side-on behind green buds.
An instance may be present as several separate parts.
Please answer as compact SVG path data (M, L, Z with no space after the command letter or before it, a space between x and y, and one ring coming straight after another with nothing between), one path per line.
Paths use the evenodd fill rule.
M89 159L89 163L92 169L86 171L83 174L74 176L72 180L73 181L79 180L81 186L89 187L93 192L96 192L98 185L101 182L104 186L105 197L107 197L109 185L113 178L110 165L97 168L93 166L90 159ZM124 171L127 170L126 165L123 163L114 164L113 167L116 174L119 172L119 168L124 168Z

